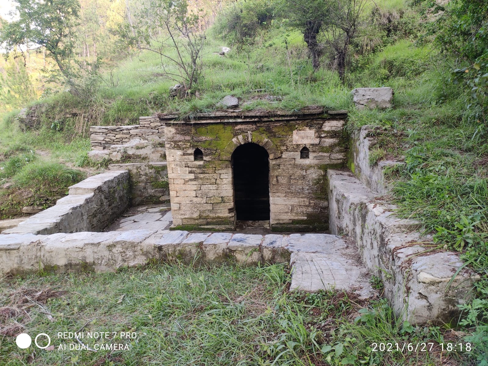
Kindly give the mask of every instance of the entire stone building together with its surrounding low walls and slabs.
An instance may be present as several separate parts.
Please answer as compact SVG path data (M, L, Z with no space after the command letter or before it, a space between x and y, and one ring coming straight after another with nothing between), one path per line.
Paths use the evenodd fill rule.
M391 89L362 89L354 92L359 106L391 102ZM449 322L478 277L456 253L425 252L422 242L430 238L421 236L419 224L394 217L394 206L381 196L389 190L384 168L398 162L369 166L371 129L356 131L349 142L345 118L317 109L301 115L234 109L185 122L172 114L120 129L92 127L91 156L118 160L110 167L115 171L71 187L52 209L2 231L0 273L39 266L107 271L195 256L217 263L289 261L291 290L335 287L368 297L369 272L382 279L398 316L415 324ZM336 170L346 163L352 172ZM172 212L151 207L109 232L69 234L101 230L127 208L129 190L133 204L165 202L169 195ZM189 233L166 230L171 220L173 229L233 229L244 220L290 231L326 230L330 222L332 235Z

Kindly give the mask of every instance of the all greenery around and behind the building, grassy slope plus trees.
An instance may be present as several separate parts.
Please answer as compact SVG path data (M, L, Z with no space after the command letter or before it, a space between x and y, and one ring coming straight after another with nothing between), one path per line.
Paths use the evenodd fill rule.
M4 109L22 107L45 95L28 111L36 122L34 129L24 131L16 120L18 110L4 117L2 216L22 202L27 189L53 195L82 178L76 165L85 166L88 174L99 168L86 166L89 162L84 158L89 125L131 124L139 116L159 111L178 110L191 117L218 109L226 94L239 97L243 109L299 111L306 105L347 109L349 131L366 124L377 126L371 164L384 158L405 160L404 166L389 172L395 180L391 201L398 205L397 214L421 222L425 232L433 234L432 249L462 252L466 263L481 275L478 296L463 307L461 325L469 333L466 339L475 345L470 362L488 365L487 0L439 4L246 0L222 9L220 2L203 1L204 11L177 1L180 12L168 20L168 26L177 32L178 16L187 12L198 15L191 19L191 31L205 32L197 57L183 56L179 62L160 57L155 50L175 58L188 44L178 41L168 48L164 42L151 41L163 31L132 19L142 7L131 1L128 7L122 1L100 3L103 6L81 3L71 40L73 67L88 66L92 71L89 82L81 83L91 88L85 97L39 82L38 76L46 74L41 69L56 68L49 57L43 64L42 49L27 52L26 66L14 58L13 51L2 68L2 80L9 82L0 86ZM152 2L144 2L144 9L151 6ZM98 31L90 33L87 25L88 33L83 33L82 25L91 22L98 24L93 28ZM1 29L5 27L6 23ZM87 53L93 50L88 47L92 41L99 50L96 55ZM219 55L221 46L232 51ZM122 59L114 56L116 48ZM98 57L105 62L102 69L90 66ZM168 88L176 81L187 86L190 80L182 71L185 65L190 70L200 67L199 77L172 98ZM86 74L75 74L77 85L86 81ZM355 110L350 91L361 86L391 86L395 107ZM52 180L53 176L60 178ZM34 181L40 183L32 186L29 177L39 177ZM48 182L57 185L48 187ZM293 351L291 347L290 354Z

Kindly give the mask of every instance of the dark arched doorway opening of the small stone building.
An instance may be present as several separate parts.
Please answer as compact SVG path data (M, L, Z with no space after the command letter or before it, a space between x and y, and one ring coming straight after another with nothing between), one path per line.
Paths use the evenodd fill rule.
M237 220L269 220L268 152L257 143L244 143L234 150L231 163Z

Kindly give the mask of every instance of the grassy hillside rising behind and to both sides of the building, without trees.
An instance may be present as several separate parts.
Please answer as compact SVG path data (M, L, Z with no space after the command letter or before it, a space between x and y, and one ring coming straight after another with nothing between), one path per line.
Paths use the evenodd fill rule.
M203 80L190 98L169 97L168 88L174 81L162 77L160 58L145 52L107 68L92 98L77 100L59 93L39 100L35 113L40 124L34 130L23 131L16 113L4 116L0 126L0 217L17 215L26 203L47 205L35 202L35 197L49 196L52 201L69 184L102 168L90 166L84 159L89 150L89 125L132 124L139 116L164 111L179 111L189 118L220 108L217 103L227 94L239 97L245 110L298 112L306 105L346 109L349 131L366 124L378 128L379 143L371 164L384 158L406 163L389 172L395 183L388 199L397 204L397 215L418 220L426 233L433 234L433 250L459 251L480 273L478 298L465 306L467 317L461 331L465 332L462 337L467 334L466 340L476 345L471 362L486 365L486 126L476 118L479 110L466 107L463 89L449 81L452 60L434 49L430 39L420 42L421 10L414 5L418 3L421 1L377 2L384 27L367 28L358 40L357 49L368 51L352 55L345 83L327 69L325 57L323 67L313 72L303 35L279 21L262 25L247 44L224 41L232 38L223 37L218 21L207 32ZM370 5L368 11L373 12L375 7ZM221 56L221 46L232 51ZM175 70L171 64L165 67ZM350 91L367 86L392 87L394 108L356 110ZM273 102L266 97L274 97ZM71 112L78 117L71 117Z

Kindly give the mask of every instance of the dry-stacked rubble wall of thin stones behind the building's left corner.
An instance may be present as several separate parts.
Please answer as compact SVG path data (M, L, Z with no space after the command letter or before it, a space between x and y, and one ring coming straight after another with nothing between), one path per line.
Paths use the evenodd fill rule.
M164 122L153 117L140 117L140 124L130 126L91 126L90 142L93 150L105 150L135 139L164 141Z

